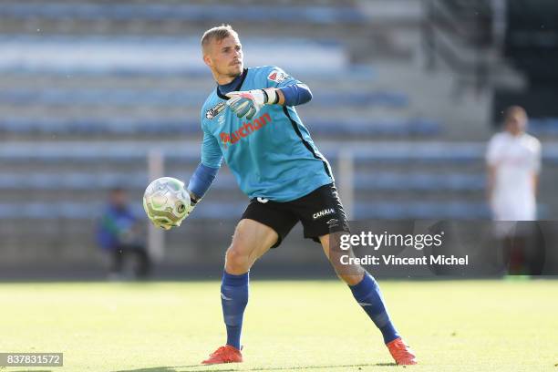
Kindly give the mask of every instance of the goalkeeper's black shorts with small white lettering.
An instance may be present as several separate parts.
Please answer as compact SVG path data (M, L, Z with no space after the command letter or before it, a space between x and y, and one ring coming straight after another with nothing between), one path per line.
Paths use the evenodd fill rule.
M243 212L242 219L245 218L274 229L279 238L272 248L279 246L299 221L305 229L305 238L317 243L318 237L322 235L349 231L345 211L333 183L321 186L291 202L254 198Z

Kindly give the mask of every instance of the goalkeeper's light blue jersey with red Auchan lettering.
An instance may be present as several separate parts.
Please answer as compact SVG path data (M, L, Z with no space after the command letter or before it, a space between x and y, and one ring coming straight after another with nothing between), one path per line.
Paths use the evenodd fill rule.
M232 90L282 88L300 81L273 66L245 68ZM315 147L294 107L264 105L239 119L219 87L202 107L202 164L224 159L248 197L290 202L333 182L329 163Z

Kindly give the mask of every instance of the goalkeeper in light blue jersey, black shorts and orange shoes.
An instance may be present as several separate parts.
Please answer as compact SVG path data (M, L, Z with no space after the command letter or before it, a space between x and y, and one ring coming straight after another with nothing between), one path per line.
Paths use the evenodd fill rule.
M375 279L361 267L343 274L330 257L330 233L349 230L329 163L294 109L312 98L310 90L279 67L244 68L242 45L231 26L206 31L202 53L217 87L202 107L202 162L188 186L191 209L209 189L222 160L250 198L222 274L227 341L202 363L243 361L241 331L250 268L300 221L305 238L321 243L337 275L377 325L396 363L416 364L387 314Z

